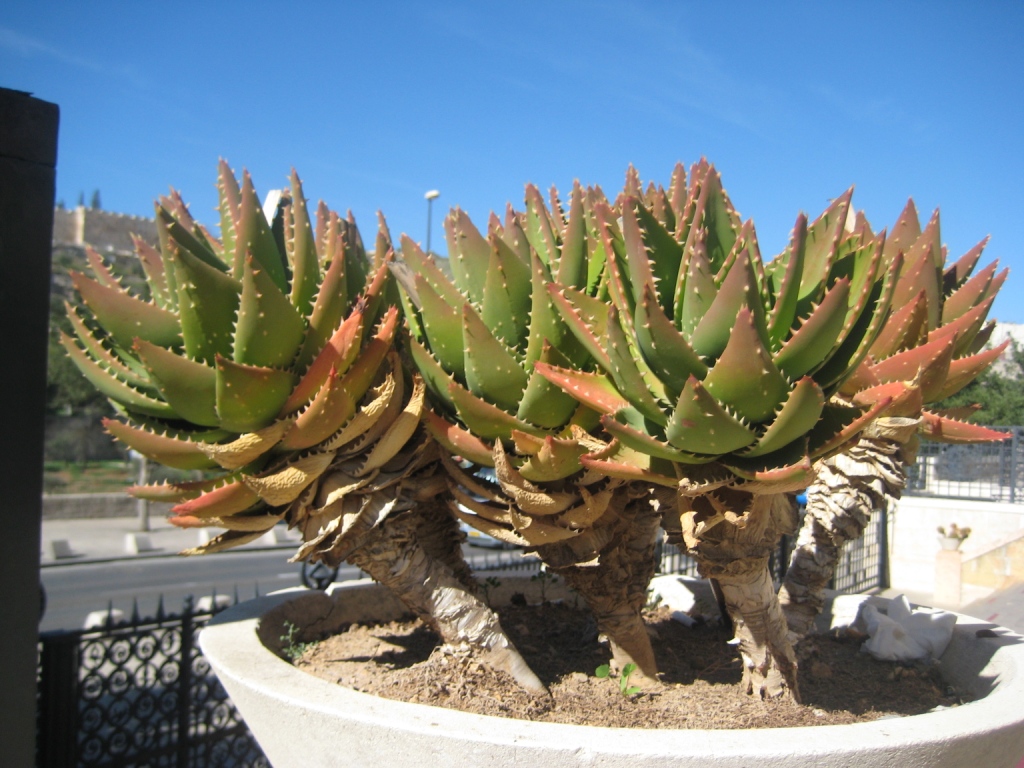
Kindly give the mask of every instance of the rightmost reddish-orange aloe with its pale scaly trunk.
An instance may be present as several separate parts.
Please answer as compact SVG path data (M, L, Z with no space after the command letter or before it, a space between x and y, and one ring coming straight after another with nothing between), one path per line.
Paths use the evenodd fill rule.
M886 241L886 258L902 257L894 309L840 394L861 404L894 399L856 444L816 467L780 592L795 637L805 635L820 612L842 546L863 534L872 510L899 499L919 437L945 442L1009 437L967 422L972 409L932 406L981 375L1009 343L985 348L995 325L986 318L1009 273L998 271L997 262L974 272L986 243L987 238L947 264L939 212L922 229L912 200Z

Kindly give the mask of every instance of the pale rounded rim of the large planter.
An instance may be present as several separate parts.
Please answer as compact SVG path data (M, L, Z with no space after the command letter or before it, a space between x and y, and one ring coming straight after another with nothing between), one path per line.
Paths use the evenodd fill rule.
M331 596L338 599L350 590L370 588L380 589L369 580L346 582L335 585ZM679 755L707 759L750 756L752 751L765 758L787 758L792 761L802 757L813 761L815 756L831 754L837 741L851 740L868 753L878 751L896 755L904 748L916 745L920 749L921 744L936 742L937 739L942 743L951 743L963 738L978 739L982 733L1001 731L1007 731L1011 739L1024 743L1024 712L1020 707L1020 702L1024 701L1024 638L991 623L959 613L956 614L955 632L974 636L983 629L1000 630L994 638L977 640L992 644L994 670L989 669L992 667L989 664L985 671L988 673L986 677L991 676L994 687L983 698L971 703L924 715L849 725L730 730L631 729L475 715L385 699L309 675L267 649L256 632L260 617L268 610L308 594L305 590L286 591L241 603L216 615L203 630L200 644L229 693L233 687L231 681L241 684L247 679L245 685L282 707L301 706L369 727L397 728L430 739L443 740L446 735L457 734L464 742L504 743L518 748L530 745L556 749L562 753L568 751L577 756L580 764L595 760L603 765L601 756L629 756L631 761ZM608 763L618 764L614 761ZM797 764L800 763L778 763ZM905 764L919 763L911 761Z

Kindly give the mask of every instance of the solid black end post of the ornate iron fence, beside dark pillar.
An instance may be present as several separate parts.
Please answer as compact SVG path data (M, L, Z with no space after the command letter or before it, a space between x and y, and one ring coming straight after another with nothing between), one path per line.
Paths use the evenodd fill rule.
M39 762L78 765L79 633L44 638L39 679Z

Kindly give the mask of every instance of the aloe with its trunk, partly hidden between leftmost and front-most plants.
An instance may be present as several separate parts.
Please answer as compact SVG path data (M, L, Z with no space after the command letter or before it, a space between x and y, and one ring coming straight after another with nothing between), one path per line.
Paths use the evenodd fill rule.
M409 239L395 269L455 514L536 550L583 594L616 662L653 676L640 621L658 521L648 488L586 470L583 457L608 447L597 414L538 373L593 366L548 286L602 300L593 218L602 201L578 183L564 204L552 190L549 204L527 186L525 210L493 215L486 234L455 210L445 221L452 276Z

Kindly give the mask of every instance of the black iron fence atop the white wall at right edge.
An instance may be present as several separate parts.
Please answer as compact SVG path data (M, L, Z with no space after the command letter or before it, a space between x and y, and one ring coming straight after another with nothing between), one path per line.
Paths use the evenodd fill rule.
M904 493L1024 503L1024 427L992 429L1011 437L967 445L923 440Z

